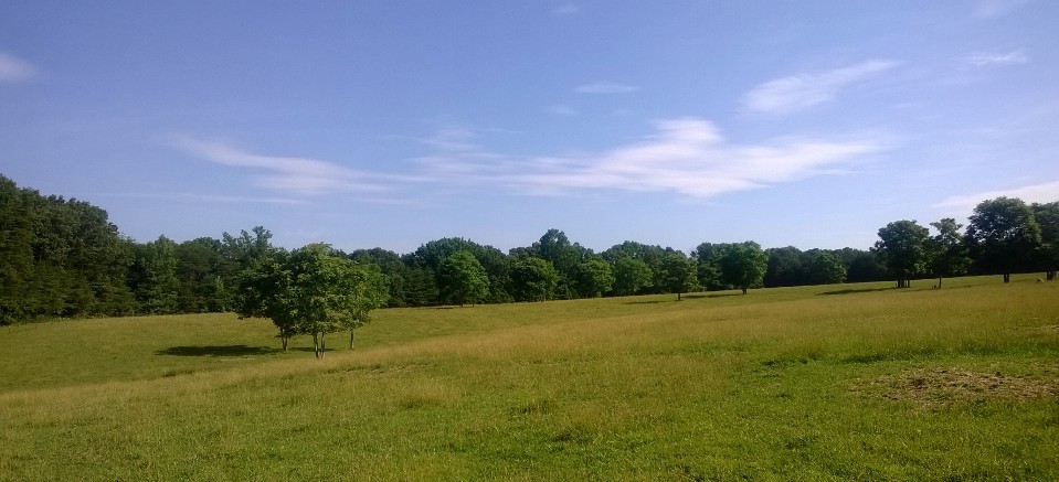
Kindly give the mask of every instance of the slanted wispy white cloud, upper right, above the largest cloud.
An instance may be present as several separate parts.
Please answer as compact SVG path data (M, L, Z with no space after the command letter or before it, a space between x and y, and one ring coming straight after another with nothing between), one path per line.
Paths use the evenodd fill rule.
M837 93L854 83L896 67L894 61L872 60L816 74L796 74L758 85L743 104L751 110L786 114L830 101Z

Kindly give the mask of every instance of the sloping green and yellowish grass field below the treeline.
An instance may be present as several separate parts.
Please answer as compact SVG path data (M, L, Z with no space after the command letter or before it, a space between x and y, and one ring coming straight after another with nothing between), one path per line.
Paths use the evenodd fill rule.
M1035 279L2 328L0 479L1059 480Z

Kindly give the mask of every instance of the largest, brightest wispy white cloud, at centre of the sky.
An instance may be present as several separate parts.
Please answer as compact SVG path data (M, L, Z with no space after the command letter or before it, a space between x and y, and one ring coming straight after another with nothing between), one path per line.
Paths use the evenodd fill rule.
M761 144L727 142L708 120L687 117L655 122L646 140L590 156L517 159L480 147L421 159L437 182L474 183L530 194L591 190L673 192L708 199L834 173L886 149L867 139L823 141L787 138Z

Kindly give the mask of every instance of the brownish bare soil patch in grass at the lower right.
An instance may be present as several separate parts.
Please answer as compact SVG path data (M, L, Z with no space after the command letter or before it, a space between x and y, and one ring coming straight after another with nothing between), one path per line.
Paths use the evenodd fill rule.
M1036 368L1039 375L1034 377L960 367L915 368L855 384L850 390L891 400L911 400L923 407L993 398L1031 400L1059 397L1059 367Z

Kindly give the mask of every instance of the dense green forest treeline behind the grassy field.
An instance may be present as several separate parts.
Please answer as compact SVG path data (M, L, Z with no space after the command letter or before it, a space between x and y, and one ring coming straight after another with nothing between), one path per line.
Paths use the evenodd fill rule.
M952 218L879 229L869 250L762 249L756 243L702 243L689 254L624 242L602 253L549 229L504 253L443 238L400 255L383 248L340 253L388 278L388 307L502 303L601 296L680 293L897 280L966 274L1045 271L1059 266L1059 203L984 201L965 231ZM44 196L0 175L0 324L97 315L234 311L243 275L272 253L254 227L221 238L140 243L120 235L106 211ZM374 269L374 268L373 268Z

